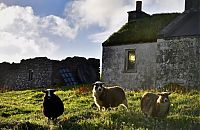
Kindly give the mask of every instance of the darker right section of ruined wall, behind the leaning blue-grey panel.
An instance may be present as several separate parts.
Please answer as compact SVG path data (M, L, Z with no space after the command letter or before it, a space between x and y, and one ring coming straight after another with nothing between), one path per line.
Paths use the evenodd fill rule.
M52 83L63 83L60 68L68 68L78 83L93 83L100 79L100 60L95 58L68 57L62 61L53 61ZM83 72L83 74L81 73Z

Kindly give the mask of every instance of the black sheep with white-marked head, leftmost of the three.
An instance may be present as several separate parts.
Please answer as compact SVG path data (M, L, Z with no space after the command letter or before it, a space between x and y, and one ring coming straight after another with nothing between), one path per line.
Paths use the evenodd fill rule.
M61 99L54 94L56 90L47 89L42 92L45 93L43 99L43 113L46 117L48 117L48 122L50 120L55 121L57 117L63 114L64 105Z

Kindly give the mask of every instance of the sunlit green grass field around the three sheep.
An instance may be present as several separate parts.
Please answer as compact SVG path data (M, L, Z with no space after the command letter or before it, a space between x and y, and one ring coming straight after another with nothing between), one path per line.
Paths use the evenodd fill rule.
M157 92L156 90L153 90ZM168 129L197 130L200 128L200 91L172 92L171 109L167 118L146 118L140 111L144 93L126 91L129 110L98 111L93 108L91 88L59 89L55 92L64 102L65 111L57 124L47 124L42 113L43 93L40 90L21 90L0 93L0 128L15 130L37 129Z

